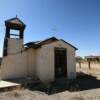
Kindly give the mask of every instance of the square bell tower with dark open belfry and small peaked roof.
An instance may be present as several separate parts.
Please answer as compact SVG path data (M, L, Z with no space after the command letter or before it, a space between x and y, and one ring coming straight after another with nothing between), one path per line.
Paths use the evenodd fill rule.
M24 38L25 24L17 17L6 20L6 33L4 38L3 56L7 56L8 53L16 53L17 46L22 46ZM19 44L18 44L19 43ZM19 50L20 51L20 50Z

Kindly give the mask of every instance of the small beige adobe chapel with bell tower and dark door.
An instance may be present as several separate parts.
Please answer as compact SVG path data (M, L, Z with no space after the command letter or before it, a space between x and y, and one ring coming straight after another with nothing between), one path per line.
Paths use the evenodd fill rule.
M51 82L76 78L76 47L55 37L23 44L26 25L16 17L6 20L5 26L1 79L38 77Z

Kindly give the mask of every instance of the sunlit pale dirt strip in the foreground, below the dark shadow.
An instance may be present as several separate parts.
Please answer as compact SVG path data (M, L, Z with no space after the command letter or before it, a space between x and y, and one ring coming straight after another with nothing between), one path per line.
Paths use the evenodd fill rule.
M40 91L16 90L1 93L0 100L100 100L100 89L82 92L64 91L53 95Z

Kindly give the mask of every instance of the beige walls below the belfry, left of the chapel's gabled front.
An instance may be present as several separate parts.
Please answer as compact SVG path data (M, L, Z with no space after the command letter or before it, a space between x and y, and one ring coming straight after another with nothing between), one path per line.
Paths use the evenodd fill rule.
M32 76L35 73L34 51L24 51L23 40L8 39L8 55L3 57L0 77L2 79Z

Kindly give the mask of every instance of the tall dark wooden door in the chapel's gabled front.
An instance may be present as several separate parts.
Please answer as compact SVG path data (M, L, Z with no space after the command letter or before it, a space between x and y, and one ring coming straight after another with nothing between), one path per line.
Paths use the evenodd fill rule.
M55 77L67 76L67 53L65 48L55 48Z

